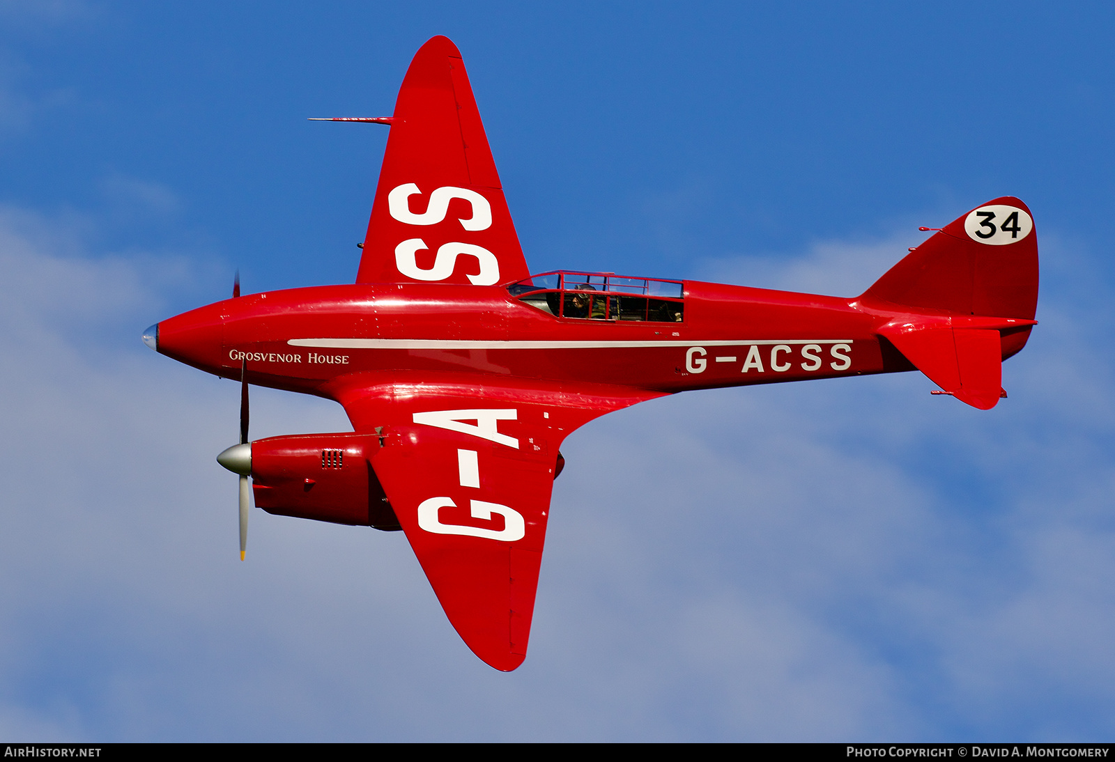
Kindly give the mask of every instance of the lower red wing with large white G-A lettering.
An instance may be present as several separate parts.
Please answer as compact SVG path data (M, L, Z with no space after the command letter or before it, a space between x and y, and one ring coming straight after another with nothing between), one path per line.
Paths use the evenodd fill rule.
M502 381L502 380L501 380ZM583 423L659 393L626 388L352 379L330 390L446 616L496 670L525 657L558 448Z

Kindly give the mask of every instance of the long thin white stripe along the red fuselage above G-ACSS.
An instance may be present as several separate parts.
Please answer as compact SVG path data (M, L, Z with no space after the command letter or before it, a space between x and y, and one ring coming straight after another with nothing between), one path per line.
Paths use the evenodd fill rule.
M456 339L291 339L291 346L319 349L471 350L471 349L652 349L656 346L749 346L752 344L852 344L854 339L720 339L711 341L467 341Z

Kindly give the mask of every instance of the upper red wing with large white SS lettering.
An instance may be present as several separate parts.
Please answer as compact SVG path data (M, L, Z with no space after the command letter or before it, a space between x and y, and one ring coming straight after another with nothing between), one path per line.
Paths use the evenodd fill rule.
M526 277L468 75L447 38L415 55L391 119L356 282Z

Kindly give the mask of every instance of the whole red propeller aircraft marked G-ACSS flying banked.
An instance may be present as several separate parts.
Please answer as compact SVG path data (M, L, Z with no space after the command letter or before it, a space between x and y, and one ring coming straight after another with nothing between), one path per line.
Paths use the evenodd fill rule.
M144 334L242 384L270 514L401 529L449 622L497 670L526 654L559 448L609 411L692 389L920 370L987 410L1036 324L1029 209L995 198L860 296L560 271L531 275L460 53L403 80L355 285L240 295ZM930 228L922 228L930 229ZM248 384L345 407L352 432L248 440Z

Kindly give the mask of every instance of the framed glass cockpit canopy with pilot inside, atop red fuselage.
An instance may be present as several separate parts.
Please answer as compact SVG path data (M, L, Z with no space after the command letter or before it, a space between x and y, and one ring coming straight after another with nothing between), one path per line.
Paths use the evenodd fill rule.
M507 291L556 318L680 323L685 316L679 281L559 270L513 283Z

